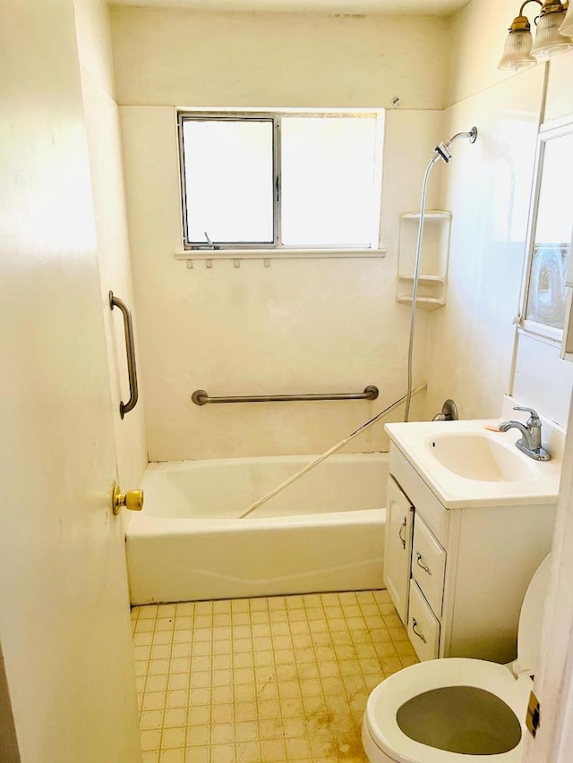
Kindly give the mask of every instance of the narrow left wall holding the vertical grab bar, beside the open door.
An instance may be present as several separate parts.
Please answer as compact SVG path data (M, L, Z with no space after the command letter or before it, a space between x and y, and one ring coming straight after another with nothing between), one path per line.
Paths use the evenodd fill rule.
M104 0L74 0L74 10L96 214L101 301L106 324L107 360L114 407L117 471L119 484L125 491L141 487L141 478L147 465L147 446L141 389L140 402L133 411L126 414L124 420L119 415L120 400L125 403L130 396L124 322L119 309L109 309L108 301L108 293L111 290L132 309L137 340L138 324L134 310L109 14ZM139 365L137 343L136 359Z

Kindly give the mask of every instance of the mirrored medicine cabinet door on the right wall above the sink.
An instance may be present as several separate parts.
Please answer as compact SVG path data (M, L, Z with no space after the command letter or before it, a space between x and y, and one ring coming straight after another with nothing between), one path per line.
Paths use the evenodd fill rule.
M573 124L541 131L537 156L524 327L557 338L565 325L573 228Z

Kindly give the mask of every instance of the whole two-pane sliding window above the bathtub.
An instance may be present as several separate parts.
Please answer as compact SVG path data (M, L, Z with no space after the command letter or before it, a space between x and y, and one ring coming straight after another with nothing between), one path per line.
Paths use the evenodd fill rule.
M180 113L184 248L377 248L382 120Z

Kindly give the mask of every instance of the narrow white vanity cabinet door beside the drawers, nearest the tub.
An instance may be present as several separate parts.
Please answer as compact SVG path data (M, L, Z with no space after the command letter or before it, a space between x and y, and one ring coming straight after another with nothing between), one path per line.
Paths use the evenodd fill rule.
M384 582L400 620L407 625L414 506L391 475L387 495Z

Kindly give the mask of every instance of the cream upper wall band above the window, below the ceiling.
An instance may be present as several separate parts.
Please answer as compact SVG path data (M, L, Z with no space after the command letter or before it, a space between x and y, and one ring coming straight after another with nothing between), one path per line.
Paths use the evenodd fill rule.
M122 105L443 108L449 21L112 8Z

